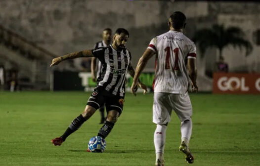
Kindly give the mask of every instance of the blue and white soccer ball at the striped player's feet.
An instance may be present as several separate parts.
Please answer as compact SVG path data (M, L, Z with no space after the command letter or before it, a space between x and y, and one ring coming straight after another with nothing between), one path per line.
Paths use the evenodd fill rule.
M106 149L106 141L100 136L93 136L88 141L90 152L102 153Z

